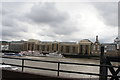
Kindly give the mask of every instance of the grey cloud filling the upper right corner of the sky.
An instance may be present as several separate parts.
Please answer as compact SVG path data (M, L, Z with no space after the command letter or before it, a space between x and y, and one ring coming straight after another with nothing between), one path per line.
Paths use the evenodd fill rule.
M93 3L95 8L104 18L104 22L110 26L118 26L118 3L117 2L98 2Z

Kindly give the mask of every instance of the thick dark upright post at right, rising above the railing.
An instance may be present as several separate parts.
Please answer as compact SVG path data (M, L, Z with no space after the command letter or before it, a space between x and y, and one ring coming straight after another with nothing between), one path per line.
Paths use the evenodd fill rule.
M104 56L104 46L101 46L101 55L100 55L100 77L99 80L107 80L107 67L106 65L106 59Z

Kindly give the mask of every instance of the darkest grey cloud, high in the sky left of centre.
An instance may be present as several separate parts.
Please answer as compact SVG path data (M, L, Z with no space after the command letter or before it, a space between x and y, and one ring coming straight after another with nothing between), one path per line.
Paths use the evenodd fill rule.
M31 8L31 12L27 14L35 23L61 23L64 22L68 15L60 12L55 3L39 3Z

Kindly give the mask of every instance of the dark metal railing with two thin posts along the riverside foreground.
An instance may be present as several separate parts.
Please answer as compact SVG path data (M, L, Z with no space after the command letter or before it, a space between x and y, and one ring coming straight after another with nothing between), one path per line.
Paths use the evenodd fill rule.
M21 61L22 61L22 64L21 64L21 65L9 64L9 63L4 63L4 64L5 64L5 65L11 65L11 66L21 67L21 68L22 68L22 71L24 71L24 68L31 68L31 69L40 69L40 70L55 71L55 72L57 72L57 76L60 76L60 74L59 74L60 72L64 72L64 73L75 73L75 74L85 74L85 75L94 75L94 76L104 76L104 77L117 77L117 78L120 78L120 76L117 76L117 75L108 75L108 74L106 75L106 74L101 74L101 73L99 73L99 74L97 74L97 73L86 73L86 72L77 72L77 71L61 70L61 69L60 69L60 65L61 65L61 64L120 68L119 66L98 65L98 64L83 64L83 63L71 63L71 62L59 62L59 61L47 61L47 60L15 58L15 57L7 57L7 56L4 56L4 57L2 57L2 58L21 60ZM25 61L55 63L55 64L57 64L57 69L26 66L26 65L25 65ZM1 64L2 64L2 63L1 63Z

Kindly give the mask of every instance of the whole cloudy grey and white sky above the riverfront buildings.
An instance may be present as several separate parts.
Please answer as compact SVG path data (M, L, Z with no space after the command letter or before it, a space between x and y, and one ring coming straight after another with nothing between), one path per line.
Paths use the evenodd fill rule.
M113 42L117 2L2 2L2 40Z

